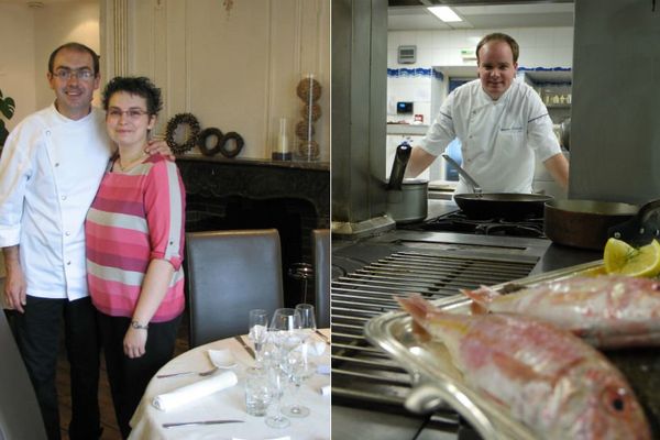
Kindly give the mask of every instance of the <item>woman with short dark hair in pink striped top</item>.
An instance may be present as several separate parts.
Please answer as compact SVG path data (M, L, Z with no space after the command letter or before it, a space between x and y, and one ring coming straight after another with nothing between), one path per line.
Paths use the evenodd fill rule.
M185 305L185 189L173 162L144 153L161 90L144 77L118 77L102 99L119 153L87 215L87 280L127 438L146 385L174 353Z

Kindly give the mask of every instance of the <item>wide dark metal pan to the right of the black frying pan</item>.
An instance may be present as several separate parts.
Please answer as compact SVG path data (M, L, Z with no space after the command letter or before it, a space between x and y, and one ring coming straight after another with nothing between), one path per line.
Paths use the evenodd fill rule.
M630 220L636 205L598 200L552 200L544 205L543 229L556 243L602 251L608 230Z

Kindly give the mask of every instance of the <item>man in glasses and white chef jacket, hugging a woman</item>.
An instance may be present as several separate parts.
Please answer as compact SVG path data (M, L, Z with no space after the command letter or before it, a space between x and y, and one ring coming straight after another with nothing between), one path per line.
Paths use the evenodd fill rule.
M96 439L99 346L84 222L116 147L105 112L91 106L100 85L98 55L67 43L51 55L47 79L55 102L12 130L0 157L3 299L13 309L12 327L48 439L61 438L55 372L62 320L72 366L69 438Z

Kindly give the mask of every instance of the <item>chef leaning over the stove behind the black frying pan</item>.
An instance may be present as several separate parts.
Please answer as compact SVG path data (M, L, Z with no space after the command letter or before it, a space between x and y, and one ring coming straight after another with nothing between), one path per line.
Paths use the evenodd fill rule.
M552 132L552 120L538 94L515 81L518 43L492 33L476 45L479 79L455 90L419 146L413 148L407 174L417 176L454 139L461 141L463 168L484 193L532 193L535 154L564 189L569 163ZM461 177L455 194L472 193Z

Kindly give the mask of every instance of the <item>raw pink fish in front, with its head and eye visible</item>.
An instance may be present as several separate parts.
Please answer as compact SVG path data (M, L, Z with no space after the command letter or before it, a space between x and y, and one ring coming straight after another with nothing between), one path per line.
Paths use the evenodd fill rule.
M420 296L397 299L418 332L444 343L470 387L506 406L538 438L651 438L625 377L570 332L522 315L459 315Z

